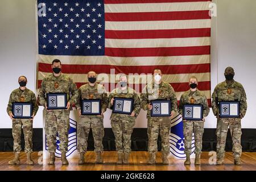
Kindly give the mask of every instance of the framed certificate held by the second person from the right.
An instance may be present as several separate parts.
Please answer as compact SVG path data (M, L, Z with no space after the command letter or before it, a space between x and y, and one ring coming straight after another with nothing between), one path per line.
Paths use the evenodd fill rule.
M203 105L185 104L183 106L183 119L201 121L203 119Z

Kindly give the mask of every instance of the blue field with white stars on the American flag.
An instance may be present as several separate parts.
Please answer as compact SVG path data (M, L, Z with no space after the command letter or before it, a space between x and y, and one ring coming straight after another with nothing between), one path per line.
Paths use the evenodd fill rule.
M42 55L104 55L103 0L38 0L38 42Z

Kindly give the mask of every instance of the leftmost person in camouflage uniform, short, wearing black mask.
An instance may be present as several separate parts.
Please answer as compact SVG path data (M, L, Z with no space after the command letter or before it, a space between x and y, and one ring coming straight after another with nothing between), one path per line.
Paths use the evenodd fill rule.
M36 97L34 92L26 88L27 78L25 76L20 76L18 79L19 88L11 92L9 103L7 106L7 113L13 120L13 150L14 159L9 161L10 165L20 164L19 153L21 151L20 145L20 135L23 128L23 134L25 139L25 152L27 154L27 164L34 165L31 158L32 153L32 135L33 135L33 119L38 111L38 104L36 104ZM14 102L30 102L32 103L32 118L31 119L14 119L13 115L13 103Z

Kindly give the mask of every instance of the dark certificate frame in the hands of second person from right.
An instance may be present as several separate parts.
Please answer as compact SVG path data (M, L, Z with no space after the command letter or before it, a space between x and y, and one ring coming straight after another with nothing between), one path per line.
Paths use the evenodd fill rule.
M200 118L194 118L193 117L193 110L194 107L200 107ZM189 110L189 114L186 114L186 111ZM190 117L191 115L191 117ZM203 116L203 105L201 104L184 104L183 106L183 113L182 113L183 119L184 120L191 120L191 121L202 121L204 116Z

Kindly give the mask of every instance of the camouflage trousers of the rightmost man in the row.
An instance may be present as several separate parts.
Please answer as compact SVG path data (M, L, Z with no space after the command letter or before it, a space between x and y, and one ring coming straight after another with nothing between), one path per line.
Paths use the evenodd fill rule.
M217 158L225 156L226 134L230 129L232 137L232 151L234 157L240 157L242 154L241 146L241 119L240 118L220 118L217 121Z

